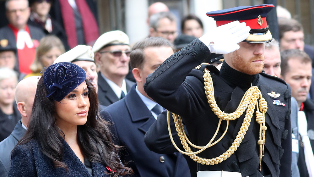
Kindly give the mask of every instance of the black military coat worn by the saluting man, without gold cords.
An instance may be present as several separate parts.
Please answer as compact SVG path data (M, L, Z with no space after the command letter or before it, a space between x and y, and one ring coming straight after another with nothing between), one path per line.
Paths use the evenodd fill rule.
M163 64L147 77L144 85L149 97L162 107L182 116L192 143L205 146L213 137L219 119L212 112L204 91L203 67L193 69L210 55L206 45L195 39L165 60ZM234 171L242 176L262 177L291 176L291 124L290 124L290 87L281 79L260 73L246 75L240 73L226 63L220 72L208 65L214 82L215 100L221 110L232 113L238 107L245 91L251 86L258 86L268 103L265 114L266 141L262 171L259 171L259 125L253 114L252 121L240 146L230 158L216 165L198 164L198 171ZM280 93L277 98L268 93ZM282 105L274 105L273 100L280 100ZM224 138L216 145L201 152L199 157L215 158L223 154L236 138L245 113L236 120L229 121L229 128ZM217 138L225 131L223 121Z

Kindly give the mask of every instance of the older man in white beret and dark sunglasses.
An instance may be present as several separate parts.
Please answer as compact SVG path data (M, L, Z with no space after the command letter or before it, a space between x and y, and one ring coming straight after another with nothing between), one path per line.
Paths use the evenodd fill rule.
M122 31L109 31L95 42L92 51L99 66L98 99L101 105L110 104L125 97L134 82L125 79L129 72L131 49L129 37Z

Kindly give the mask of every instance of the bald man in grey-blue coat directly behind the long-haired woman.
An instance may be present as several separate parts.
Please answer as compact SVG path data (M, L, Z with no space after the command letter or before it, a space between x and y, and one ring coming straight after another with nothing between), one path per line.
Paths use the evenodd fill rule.
M15 88L15 101L22 119L16 124L11 135L0 142L0 176L8 176L12 149L25 134L40 77L31 76L21 80Z

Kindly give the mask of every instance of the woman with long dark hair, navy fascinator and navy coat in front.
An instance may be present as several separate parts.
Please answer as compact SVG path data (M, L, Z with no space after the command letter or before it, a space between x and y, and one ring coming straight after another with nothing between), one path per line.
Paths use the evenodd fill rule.
M50 65L37 85L28 130L11 155L9 176L120 176L95 88L73 63Z

